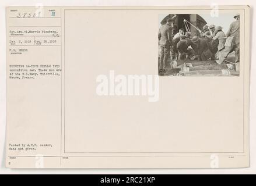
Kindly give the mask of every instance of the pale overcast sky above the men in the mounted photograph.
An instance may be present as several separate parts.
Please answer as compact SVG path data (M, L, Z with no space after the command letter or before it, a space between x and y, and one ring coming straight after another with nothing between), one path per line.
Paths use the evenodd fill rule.
M214 24L215 26L222 26L223 27L222 30L225 32L225 34L227 33L227 30L229 29L230 24L235 21L234 14L230 14L230 13L219 14L219 17L212 17L209 14L199 14L199 15L205 19L208 26L210 24ZM159 15L159 27L161 25L160 22L166 16L167 15Z

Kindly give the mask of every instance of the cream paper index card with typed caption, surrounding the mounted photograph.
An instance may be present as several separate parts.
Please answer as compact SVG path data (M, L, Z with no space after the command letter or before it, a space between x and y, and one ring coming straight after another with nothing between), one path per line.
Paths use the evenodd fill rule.
M249 8L221 6L219 17L211 16L216 11L6 8L6 166L248 167ZM210 58L171 61L175 65L168 59L162 76L157 34L164 17L188 15L201 27L197 15L209 26L222 16L233 22L237 13L234 68ZM183 27L181 16L176 19ZM232 23L225 19L223 30Z

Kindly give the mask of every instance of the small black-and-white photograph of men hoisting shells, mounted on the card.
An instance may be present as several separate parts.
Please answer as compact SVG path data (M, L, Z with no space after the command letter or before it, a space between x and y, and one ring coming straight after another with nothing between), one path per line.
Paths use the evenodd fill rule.
M159 76L239 76L240 15L159 15Z

